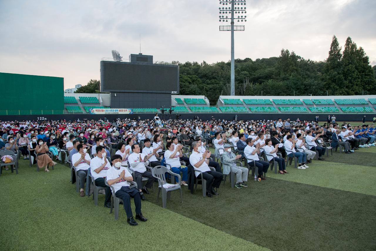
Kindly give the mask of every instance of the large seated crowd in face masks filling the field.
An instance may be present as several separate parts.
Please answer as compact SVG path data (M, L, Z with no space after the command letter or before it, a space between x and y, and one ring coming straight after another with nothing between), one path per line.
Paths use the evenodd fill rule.
M275 121L0 121L0 136L0 149L24 156L47 172L56 165L53 158L69 162L77 171L80 196L85 196L85 182L90 174L96 186L106 188L105 207L111 207L111 196L123 200L130 225L137 225L130 207L131 197L136 206L135 218L147 220L141 213L141 201L146 200L149 189L157 182L152 170L160 165L181 175L180 185L191 190L192 179L205 179L206 196L213 197L219 195L223 174L233 173L236 188L247 187L251 169L255 180L266 180L272 163L274 168L278 165L279 174L288 174L287 158L296 158L297 168L303 170L315 157L323 161L329 149L340 147L344 153L352 154L360 147L375 146L376 138L374 125L325 123L320 126L313 121L282 121L281 118ZM214 154L209 147L214 148ZM137 187L131 186L132 182ZM171 178L171 184L177 182L176 176Z

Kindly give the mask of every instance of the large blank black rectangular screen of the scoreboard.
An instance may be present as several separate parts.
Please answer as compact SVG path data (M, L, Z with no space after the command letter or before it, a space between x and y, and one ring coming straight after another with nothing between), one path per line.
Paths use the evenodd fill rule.
M104 92L179 93L179 66L101 61Z

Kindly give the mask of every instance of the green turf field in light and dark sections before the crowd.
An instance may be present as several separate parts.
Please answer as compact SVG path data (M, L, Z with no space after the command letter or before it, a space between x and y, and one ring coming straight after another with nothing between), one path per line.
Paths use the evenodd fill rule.
M184 202L173 192L167 209L155 189L142 203L149 220L136 227L122 207L115 221L103 195L99 206L79 197L67 165L36 172L21 159L18 175L0 177L1 249L375 250L375 153L329 153L306 170L269 170L261 182L249 175L242 189L226 181L213 198L183 187Z

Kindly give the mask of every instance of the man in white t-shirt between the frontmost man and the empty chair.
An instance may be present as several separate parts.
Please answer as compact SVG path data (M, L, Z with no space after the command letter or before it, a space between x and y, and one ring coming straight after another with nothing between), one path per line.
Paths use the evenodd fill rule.
M132 154L128 157L128 163L130 165L130 169L134 172L135 180L137 183L138 190L140 192L140 196L142 200L146 200L144 193L149 194L149 190L147 188L151 188L153 186L153 182L155 178L153 177L150 171L146 170L146 167L149 164L147 160L147 156L141 152L140 146L137 144L132 145ZM146 185L143 187L142 185L142 178L146 177L149 178Z

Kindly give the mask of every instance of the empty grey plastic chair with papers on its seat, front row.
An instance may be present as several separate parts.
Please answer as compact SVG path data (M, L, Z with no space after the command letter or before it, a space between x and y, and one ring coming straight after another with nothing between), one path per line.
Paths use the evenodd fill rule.
M170 184L166 181L165 173L169 173L171 175L171 181L175 180L173 176L177 176L178 183L177 184ZM182 193L182 187L180 186L181 178L179 174L173 173L171 170L168 170L163 165L157 165L152 170L153 177L158 180L158 194L156 201L158 202L159 199L159 193L162 191L162 207L166 208L167 199L170 199L171 197L171 191L180 189L180 200L183 203L183 193ZM164 185L167 185L167 187L164 187ZM171 185L171 187L168 187Z

